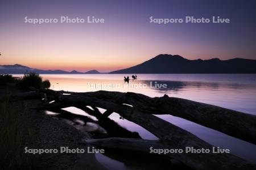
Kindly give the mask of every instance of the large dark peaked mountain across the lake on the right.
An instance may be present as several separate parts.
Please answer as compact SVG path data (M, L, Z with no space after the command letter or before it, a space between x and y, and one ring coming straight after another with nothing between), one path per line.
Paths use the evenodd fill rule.
M186 59L179 55L160 54L139 65L112 71L110 74L168 74L168 73L256 73L256 60Z

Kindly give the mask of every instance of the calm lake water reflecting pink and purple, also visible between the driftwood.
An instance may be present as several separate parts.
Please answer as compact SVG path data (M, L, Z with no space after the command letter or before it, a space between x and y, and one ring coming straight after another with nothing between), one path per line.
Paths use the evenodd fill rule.
M256 114L256 74L137 74L138 79L130 80L129 84L123 82L123 76L131 78L129 74L42 74L42 76L43 79L50 80L53 90L129 91L151 97L167 94L171 97L180 97ZM68 110L76 114L86 114L76 108L68 108ZM251 143L205 128L183 118L170 115L158 115L158 117L190 131L214 146L228 148L234 155L256 163L256 146ZM120 120L117 113L110 115L110 118L131 131L137 131L144 139L157 139L141 126L127 120ZM117 169L112 167L112 162L115 167L118 163L105 157L98 155L97 159L107 167ZM119 163L120 167L123 168L122 163Z

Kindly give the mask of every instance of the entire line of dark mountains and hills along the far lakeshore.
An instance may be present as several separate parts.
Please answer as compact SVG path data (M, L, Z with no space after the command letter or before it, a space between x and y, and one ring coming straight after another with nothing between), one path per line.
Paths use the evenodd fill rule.
M86 71L85 73L73 70L40 70L27 66L0 65L0 74L24 74L35 72L39 74L101 74L97 70ZM221 60L212 59L186 59L179 55L159 54L139 65L127 69L112 71L110 74L171 74L171 73L256 73L256 60L245 58L233 58Z

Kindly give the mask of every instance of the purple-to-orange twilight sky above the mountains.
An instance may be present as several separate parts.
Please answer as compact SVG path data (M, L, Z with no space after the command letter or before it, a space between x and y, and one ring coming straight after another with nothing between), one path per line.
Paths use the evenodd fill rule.
M58 23L25 23L57 18ZM60 23L60 16L85 23ZM87 17L104 23L87 23ZM150 23L153 18L209 18L230 23ZM188 59L256 59L256 1L0 1L0 65L108 72L158 54Z

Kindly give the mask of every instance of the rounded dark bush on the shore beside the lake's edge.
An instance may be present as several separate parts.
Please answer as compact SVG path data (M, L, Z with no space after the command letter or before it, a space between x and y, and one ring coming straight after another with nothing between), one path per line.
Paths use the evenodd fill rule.
M38 73L25 73L22 78L19 79L18 86L22 90L27 90L29 87L41 88L42 77Z

